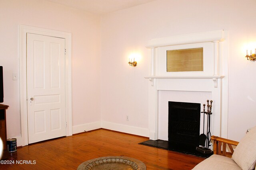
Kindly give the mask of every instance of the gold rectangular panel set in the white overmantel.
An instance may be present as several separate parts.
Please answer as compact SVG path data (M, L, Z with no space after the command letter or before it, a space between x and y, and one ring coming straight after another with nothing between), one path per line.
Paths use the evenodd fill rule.
M203 71L203 48L166 51L167 72Z

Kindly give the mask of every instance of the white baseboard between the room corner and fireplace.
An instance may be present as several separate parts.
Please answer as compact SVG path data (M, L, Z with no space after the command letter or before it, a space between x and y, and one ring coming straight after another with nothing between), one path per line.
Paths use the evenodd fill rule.
M139 136L144 136L144 137L149 136L148 129L146 129L146 128L140 128L140 127L134 127L134 126L128 126L128 125L121 125L121 124L111 123L111 122L107 122L107 121L102 121L101 122L101 127L104 128L104 129L129 133L129 134L133 134L133 135L139 135Z

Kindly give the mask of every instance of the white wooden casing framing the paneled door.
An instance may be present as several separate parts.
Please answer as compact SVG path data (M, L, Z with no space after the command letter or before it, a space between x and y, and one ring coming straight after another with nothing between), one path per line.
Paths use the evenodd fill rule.
M20 25L20 111L21 137L17 137L17 145L28 145L28 105L27 105L27 63L26 63L26 35L34 33L65 39L65 107L66 107L66 136L72 135L72 95L71 95L71 33ZM28 96L29 97L29 96ZM55 96L56 97L56 96ZM63 102L62 102L63 103ZM29 103L28 103L29 104ZM55 115L56 112L52 113ZM56 128L56 127L55 127Z

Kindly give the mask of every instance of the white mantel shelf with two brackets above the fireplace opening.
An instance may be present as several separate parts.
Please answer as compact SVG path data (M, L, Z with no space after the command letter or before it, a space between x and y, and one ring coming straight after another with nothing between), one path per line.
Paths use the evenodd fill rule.
M144 78L150 80L151 86L154 86L154 80L158 78L211 78L214 82L214 87L218 87L218 78L224 78L225 76L213 75L213 76L144 76Z

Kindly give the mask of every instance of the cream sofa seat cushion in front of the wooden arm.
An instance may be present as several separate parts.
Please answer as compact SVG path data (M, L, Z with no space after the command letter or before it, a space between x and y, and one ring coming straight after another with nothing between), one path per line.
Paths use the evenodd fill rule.
M213 154L196 165L192 170L241 170L241 168L231 158Z

